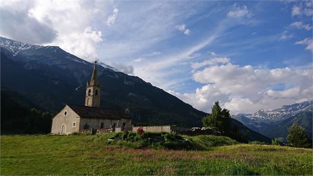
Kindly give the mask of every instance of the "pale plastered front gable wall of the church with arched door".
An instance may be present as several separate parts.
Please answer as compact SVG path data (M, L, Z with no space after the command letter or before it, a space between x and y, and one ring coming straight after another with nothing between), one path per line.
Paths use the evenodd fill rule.
M64 112L67 114L64 115ZM53 119L52 119L52 134L61 134L62 128L65 131L65 135L69 135L79 131L79 116L69 107L65 106ZM73 127L75 122L75 127ZM64 126L65 125L65 126Z

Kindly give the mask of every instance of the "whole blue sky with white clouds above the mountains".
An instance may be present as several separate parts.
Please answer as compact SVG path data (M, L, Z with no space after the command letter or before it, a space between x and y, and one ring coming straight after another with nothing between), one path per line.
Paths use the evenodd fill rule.
M231 114L313 100L312 1L0 1L0 35L56 45Z

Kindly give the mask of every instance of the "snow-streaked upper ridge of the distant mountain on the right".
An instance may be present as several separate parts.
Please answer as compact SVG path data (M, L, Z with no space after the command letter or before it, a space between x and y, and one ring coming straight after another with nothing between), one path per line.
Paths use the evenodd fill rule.
M303 110L306 110L311 106L313 106L313 101L307 101L293 105L285 105L275 110L267 111L264 109L260 109L254 114L244 116L251 120L278 121L290 117Z

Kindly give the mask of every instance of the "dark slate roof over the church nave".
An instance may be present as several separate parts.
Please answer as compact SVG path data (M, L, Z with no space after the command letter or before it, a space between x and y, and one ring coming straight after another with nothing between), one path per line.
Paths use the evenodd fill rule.
M105 109L99 107L68 105L74 112L76 112L81 118L106 118L106 119L121 119L131 118L127 114L115 110Z

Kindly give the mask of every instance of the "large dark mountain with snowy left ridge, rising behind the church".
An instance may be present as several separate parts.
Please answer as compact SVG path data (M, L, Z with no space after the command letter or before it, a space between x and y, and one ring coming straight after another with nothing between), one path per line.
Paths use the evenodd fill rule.
M14 90L41 108L58 111L65 104L84 105L86 82L94 64L58 46L39 46L0 37L1 86ZM104 67L103 67L104 66ZM207 113L182 102L137 76L99 65L101 106L119 109L136 125L201 127ZM237 120L233 124L246 132ZM251 131L251 130L249 130ZM251 131L251 138L270 139ZM266 139L266 140L265 140Z

